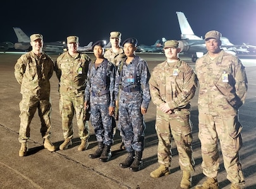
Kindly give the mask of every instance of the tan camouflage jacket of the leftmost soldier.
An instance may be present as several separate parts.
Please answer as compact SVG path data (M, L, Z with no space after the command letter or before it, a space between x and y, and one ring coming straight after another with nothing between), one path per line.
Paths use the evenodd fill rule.
M44 52L37 57L34 52L21 55L15 64L15 77L21 84L21 94L50 96L50 82L54 63Z

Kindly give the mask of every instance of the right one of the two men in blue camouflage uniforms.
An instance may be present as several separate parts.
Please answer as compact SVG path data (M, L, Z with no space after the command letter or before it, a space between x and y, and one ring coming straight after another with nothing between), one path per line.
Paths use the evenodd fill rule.
M119 96L118 129L128 152L128 157L120 163L122 168L140 170L144 150L145 122L143 115L150 103L147 62L137 55L137 39L128 38L123 42L126 59L116 72L115 96ZM119 95L118 95L119 93Z

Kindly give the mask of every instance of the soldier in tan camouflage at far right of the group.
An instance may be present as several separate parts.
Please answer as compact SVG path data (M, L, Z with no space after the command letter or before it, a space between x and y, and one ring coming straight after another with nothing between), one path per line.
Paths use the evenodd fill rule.
M200 85L198 137L207 180L196 188L219 188L218 140L231 188L241 188L245 179L239 155L242 126L238 120L238 108L245 103L247 95L245 67L240 59L220 49L219 31L207 32L205 45L208 52L197 60L195 68Z

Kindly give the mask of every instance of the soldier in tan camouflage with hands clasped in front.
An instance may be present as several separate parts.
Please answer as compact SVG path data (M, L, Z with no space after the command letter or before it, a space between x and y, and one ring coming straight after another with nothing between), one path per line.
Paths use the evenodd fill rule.
M159 139L157 157L159 168L150 173L153 178L168 175L171 166L171 140L174 139L183 170L181 188L192 186L194 171L192 157L192 123L190 122L190 100L195 95L197 77L192 67L178 58L179 42L164 43L167 60L152 71L149 86L153 103L157 106L155 130Z

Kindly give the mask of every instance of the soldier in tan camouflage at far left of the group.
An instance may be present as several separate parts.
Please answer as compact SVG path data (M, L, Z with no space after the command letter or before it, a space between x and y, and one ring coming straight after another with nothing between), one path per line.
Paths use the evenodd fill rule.
M32 51L21 55L15 65L15 77L21 84L22 100L20 102L20 133L21 148L19 156L26 156L27 141L30 137L30 123L38 108L41 120L40 132L44 139L44 147L54 151L49 137L51 134L51 102L50 82L54 64L49 55L42 52L44 45L41 34L30 36Z

